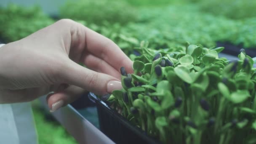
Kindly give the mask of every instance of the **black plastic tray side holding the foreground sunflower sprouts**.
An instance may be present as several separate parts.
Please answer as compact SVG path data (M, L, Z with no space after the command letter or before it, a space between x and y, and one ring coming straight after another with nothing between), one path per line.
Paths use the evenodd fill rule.
M160 144L141 129L131 125L93 93L89 98L96 103L100 130L117 144Z

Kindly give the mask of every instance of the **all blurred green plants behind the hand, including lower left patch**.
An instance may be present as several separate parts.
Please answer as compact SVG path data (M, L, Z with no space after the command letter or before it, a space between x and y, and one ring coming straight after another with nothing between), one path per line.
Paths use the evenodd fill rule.
M78 21L109 37L127 54L142 40L151 48L186 41L256 48L256 0L1 0L0 41L9 43L53 24ZM33 107L40 144L75 143L47 113ZM48 131L56 131L50 137Z

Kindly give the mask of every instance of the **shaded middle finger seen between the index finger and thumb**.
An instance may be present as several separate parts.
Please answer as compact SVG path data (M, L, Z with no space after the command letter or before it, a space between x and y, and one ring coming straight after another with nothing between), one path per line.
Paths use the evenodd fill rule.
M85 59L84 59L84 64L88 68L90 68L96 72L101 72L101 73L105 73L108 75L112 75L113 77L116 77L119 80L121 79L121 75L116 69L114 69L112 66L110 66L106 61L99 59L98 57L93 56L90 53L86 54Z

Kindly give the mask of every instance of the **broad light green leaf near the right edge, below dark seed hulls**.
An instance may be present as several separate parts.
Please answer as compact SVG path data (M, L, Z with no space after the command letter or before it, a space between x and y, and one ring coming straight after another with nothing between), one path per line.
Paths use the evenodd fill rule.
M238 90L236 92L231 93L230 101L235 104L239 104L250 97L250 93L247 90Z

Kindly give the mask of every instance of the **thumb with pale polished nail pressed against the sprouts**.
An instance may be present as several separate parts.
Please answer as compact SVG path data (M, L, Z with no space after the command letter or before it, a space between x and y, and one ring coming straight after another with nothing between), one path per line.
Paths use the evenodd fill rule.
M115 77L87 69L72 60L66 66L59 75L62 83L76 85L99 95L122 89L120 80Z

